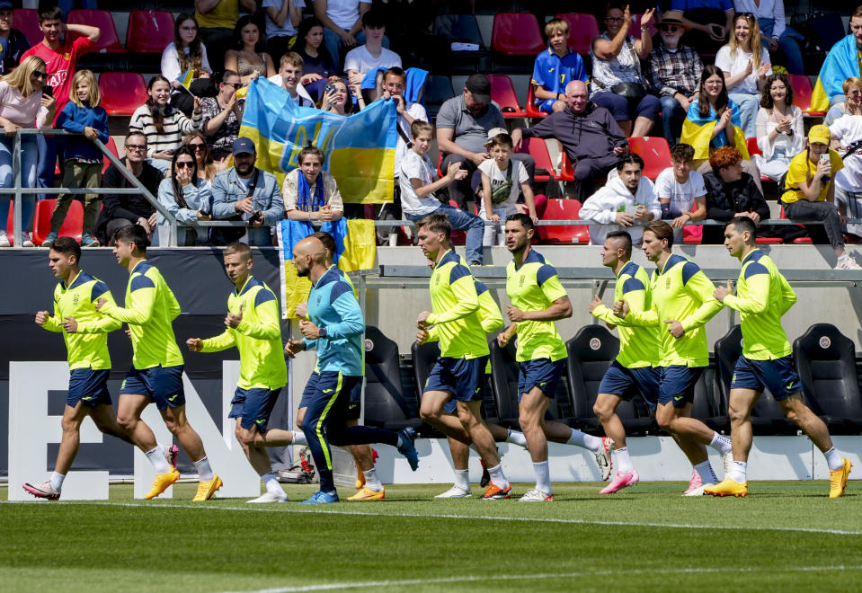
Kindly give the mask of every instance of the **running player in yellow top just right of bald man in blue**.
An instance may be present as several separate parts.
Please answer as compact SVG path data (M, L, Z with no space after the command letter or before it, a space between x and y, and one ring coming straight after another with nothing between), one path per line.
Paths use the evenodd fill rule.
M439 418L442 423L437 426L447 436L462 438L454 419L439 413L454 397L458 420L491 476L482 500L511 498L511 484L503 474L493 436L482 420L482 381L491 351L477 314L475 279L450 248L452 226L445 215L431 214L416 227L422 253L434 261L429 285L431 311L422 311L416 326L421 331L433 327L431 331L440 341L440 357L422 389L420 414L423 420Z

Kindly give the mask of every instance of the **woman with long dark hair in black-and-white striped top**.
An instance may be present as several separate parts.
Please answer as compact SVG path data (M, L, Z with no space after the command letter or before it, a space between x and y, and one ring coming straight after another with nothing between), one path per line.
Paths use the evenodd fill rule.
M164 173L173 160L173 153L182 144L182 135L200 128L200 98L194 98L194 111L189 119L168 105L171 84L164 76L150 78L147 93L147 102L132 113L129 131L144 133L149 146L149 164Z

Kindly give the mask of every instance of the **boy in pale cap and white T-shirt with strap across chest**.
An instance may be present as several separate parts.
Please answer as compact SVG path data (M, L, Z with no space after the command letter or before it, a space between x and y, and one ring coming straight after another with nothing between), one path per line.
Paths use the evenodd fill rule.
M507 217L521 211L517 201L523 193L528 215L537 223L536 200L532 188L529 187L529 175L523 164L511 158L514 152L511 136L505 128L492 129L488 136L484 146L491 158L480 164L478 169L479 185L476 190L481 196L481 199L477 200L479 217L495 223L502 221L505 224ZM496 244L502 245L502 228L485 226L483 246L491 247L495 243L495 236L499 239Z

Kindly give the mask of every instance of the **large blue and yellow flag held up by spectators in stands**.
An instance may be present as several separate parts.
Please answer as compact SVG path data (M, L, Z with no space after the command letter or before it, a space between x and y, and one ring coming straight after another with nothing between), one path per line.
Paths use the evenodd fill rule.
M392 201L395 187L396 121L391 100L344 117L299 107L287 91L261 77L248 87L239 135L251 138L257 166L280 184L310 141L324 152L324 171L338 182L345 202L382 204Z

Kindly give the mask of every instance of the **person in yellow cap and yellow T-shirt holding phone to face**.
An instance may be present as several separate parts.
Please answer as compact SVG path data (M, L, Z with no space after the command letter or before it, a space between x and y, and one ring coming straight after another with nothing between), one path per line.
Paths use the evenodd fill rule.
M844 249L841 226L847 217L835 206L835 173L844 168L840 155L830 150L831 134L826 126L812 126L804 152L790 161L785 187L779 200L788 218L822 220L832 249L838 256L835 270L862 270Z

